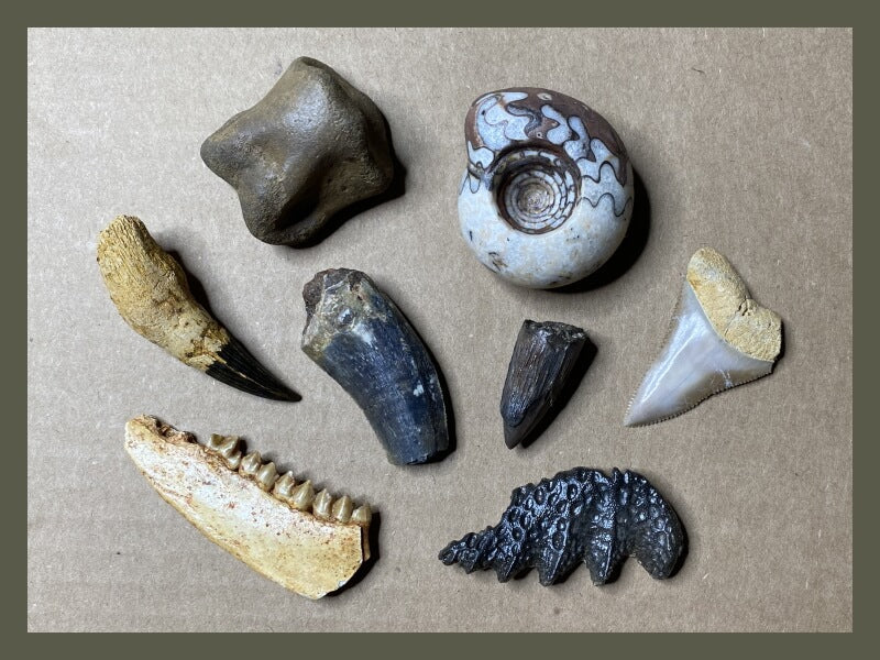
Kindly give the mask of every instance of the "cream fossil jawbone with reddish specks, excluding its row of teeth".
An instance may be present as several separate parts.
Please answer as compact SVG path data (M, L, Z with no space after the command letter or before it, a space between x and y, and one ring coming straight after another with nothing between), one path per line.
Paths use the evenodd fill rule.
M276 474L273 463L252 475L231 470L218 443L202 447L191 433L148 416L125 425L125 450L158 494L199 531L290 591L320 598L370 559L369 517L319 519L310 506L289 504L267 487ZM255 452L248 454L249 468L254 457L258 460Z

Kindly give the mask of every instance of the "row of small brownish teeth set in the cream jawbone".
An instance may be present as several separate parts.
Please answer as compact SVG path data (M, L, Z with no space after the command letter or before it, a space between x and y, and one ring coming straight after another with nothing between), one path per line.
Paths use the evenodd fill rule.
M343 495L336 502L327 488L316 493L310 480L297 484L293 472L278 476L275 463L263 463L260 452L242 455L239 449L240 439L235 436L218 436L213 433L208 442L208 450L221 455L230 470L253 479L261 488L286 502L301 512L311 512L316 518L355 522L362 527L370 525L373 512L369 504L354 508L351 497Z

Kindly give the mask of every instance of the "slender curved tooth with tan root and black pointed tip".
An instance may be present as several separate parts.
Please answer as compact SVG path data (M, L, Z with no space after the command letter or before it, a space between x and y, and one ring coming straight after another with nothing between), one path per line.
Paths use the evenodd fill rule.
M138 218L119 216L101 231L98 265L120 316L142 337L238 389L300 399L196 301L180 264Z

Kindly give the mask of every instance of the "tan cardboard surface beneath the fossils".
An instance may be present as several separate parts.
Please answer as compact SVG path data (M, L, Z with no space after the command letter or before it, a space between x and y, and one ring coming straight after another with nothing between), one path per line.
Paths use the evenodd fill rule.
M528 44L528 47L524 47ZM34 30L29 35L29 566L31 630L851 629L851 32L823 30ZM406 194L308 250L244 227L202 140L299 55L385 113ZM541 86L603 113L644 182L626 252L575 293L506 285L459 237L464 112ZM95 263L139 216L216 316L302 394L227 387L129 329ZM724 253L784 322L774 373L674 420L627 429L691 254ZM360 268L433 351L457 451L395 468L362 413L299 350L302 285ZM626 267L628 266L628 267ZM598 352L529 448L498 415L524 318L586 329ZM238 433L279 466L381 512L380 559L309 602L206 540L122 449L140 413ZM630 468L679 512L673 579L635 560L594 587L541 587L437 560L495 525L510 491L560 470Z

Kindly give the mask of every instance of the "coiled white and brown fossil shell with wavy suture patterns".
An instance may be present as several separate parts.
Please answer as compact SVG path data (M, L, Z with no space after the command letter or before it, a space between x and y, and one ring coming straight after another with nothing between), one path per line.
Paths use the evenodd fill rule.
M514 284L553 288L604 264L632 213L632 167L596 111L534 87L481 96L464 120L464 240Z

